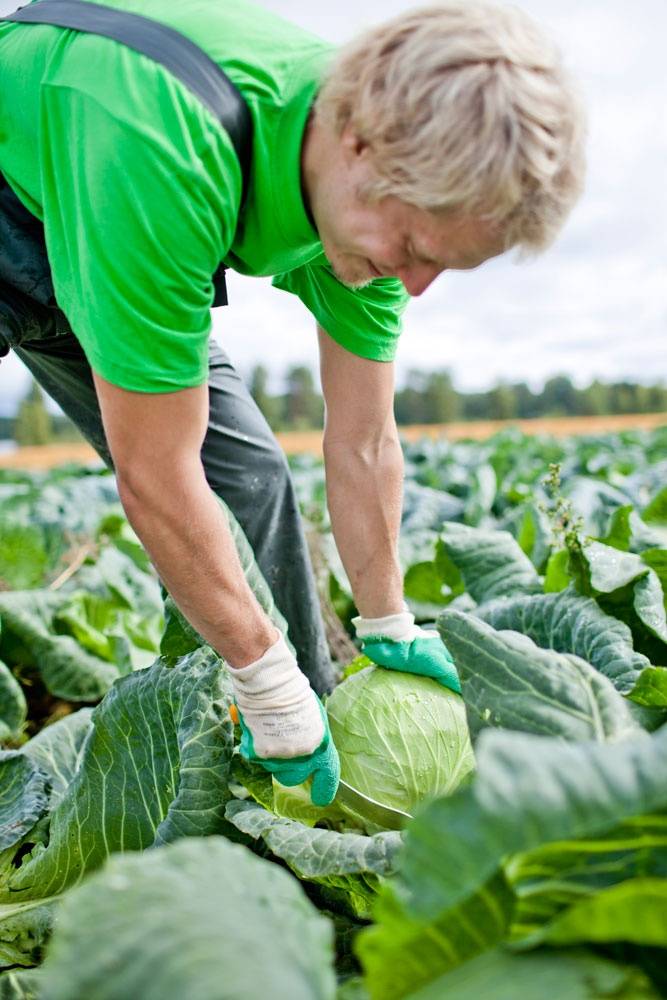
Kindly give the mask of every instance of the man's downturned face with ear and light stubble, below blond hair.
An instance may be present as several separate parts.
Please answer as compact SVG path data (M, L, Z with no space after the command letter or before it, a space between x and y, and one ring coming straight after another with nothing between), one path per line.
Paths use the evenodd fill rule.
M342 164L313 206L324 252L344 284L362 288L395 276L410 295L421 295L442 271L471 270L505 249L501 233L484 220L426 212L394 197L365 200L370 170L363 148L344 147Z

